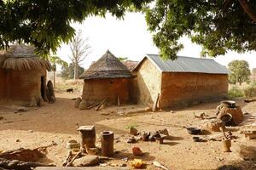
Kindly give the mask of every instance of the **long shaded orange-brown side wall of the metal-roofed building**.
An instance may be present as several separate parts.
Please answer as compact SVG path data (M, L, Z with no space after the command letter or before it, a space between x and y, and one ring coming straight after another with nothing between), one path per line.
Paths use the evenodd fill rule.
M161 107L184 107L223 99L228 93L228 75L162 73Z

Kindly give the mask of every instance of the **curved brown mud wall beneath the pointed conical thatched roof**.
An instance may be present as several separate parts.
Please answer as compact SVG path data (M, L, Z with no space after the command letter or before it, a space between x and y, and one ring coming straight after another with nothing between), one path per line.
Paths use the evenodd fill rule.
M121 104L129 102L128 79L95 79L84 80L82 99L89 104L108 99L109 104L117 104L117 96Z

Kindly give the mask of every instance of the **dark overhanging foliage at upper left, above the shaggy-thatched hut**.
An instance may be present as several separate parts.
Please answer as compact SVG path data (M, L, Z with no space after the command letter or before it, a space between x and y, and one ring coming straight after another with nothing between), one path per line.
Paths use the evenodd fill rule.
M56 52L75 35L71 22L108 12L117 18L125 10L142 9L152 0L0 0L0 48L9 42L32 43L40 55Z

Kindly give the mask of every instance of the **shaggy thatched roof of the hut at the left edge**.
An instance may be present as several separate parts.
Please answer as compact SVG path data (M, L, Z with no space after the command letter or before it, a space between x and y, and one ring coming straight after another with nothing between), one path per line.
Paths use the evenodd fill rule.
M7 50L0 51L0 66L3 69L30 70L47 69L51 71L48 60L39 58L34 48L26 45L11 45Z

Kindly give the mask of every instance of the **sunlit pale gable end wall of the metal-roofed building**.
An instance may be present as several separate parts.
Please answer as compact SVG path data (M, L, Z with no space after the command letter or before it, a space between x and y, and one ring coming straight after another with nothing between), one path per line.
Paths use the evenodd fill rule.
M142 104L153 104L160 94L161 73L156 66L144 59L137 71L137 101Z

